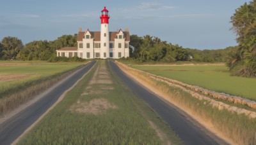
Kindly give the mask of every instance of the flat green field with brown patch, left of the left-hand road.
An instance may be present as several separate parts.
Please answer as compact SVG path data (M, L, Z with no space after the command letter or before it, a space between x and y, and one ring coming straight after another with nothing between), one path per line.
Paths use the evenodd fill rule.
M80 65L82 63L0 61L0 98Z

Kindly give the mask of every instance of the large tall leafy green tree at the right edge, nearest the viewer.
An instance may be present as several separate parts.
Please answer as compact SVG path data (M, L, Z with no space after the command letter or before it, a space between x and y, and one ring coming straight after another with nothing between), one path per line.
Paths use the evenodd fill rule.
M231 22L239 45L227 66L235 76L256 77L256 0L237 8Z

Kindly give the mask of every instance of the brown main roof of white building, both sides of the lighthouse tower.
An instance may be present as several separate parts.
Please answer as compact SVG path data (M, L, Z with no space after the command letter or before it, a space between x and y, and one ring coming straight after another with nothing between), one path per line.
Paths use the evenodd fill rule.
M92 38L94 38L94 41L100 41L100 31L95 31L95 32L89 31L89 32L92 35ZM118 31L118 32L120 32L120 31ZM116 34L118 34L118 32L109 32L109 40L115 41ZM124 33L125 41L130 41L129 32L124 31L123 33ZM83 41L84 34L85 34L85 32L78 32L77 41Z

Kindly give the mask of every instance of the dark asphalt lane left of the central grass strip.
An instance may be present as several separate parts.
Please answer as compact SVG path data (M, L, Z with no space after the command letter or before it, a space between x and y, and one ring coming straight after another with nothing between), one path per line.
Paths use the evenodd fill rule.
M58 100L65 90L70 88L78 79L80 79L86 72L88 72L96 61L84 66L76 72L73 76L61 83L54 90L47 93L42 99L35 102L26 109L15 114L9 120L4 121L0 125L0 144L11 144L17 137L19 137L30 125L32 125L42 114L49 109L49 107ZM53 119L53 118L52 118Z

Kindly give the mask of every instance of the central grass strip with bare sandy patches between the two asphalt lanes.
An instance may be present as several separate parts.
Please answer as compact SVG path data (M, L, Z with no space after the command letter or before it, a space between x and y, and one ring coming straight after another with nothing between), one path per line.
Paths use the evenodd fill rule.
M19 144L181 144L100 61Z

